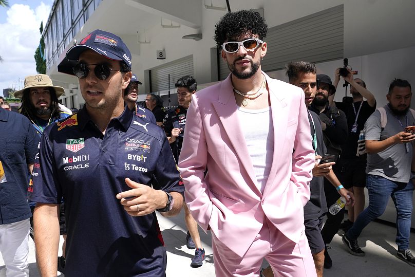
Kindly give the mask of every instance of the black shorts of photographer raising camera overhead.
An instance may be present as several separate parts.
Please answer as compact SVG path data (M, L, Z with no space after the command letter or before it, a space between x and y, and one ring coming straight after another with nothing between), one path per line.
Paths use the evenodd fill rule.
M335 166L337 178L346 189L366 187L366 159L341 158Z

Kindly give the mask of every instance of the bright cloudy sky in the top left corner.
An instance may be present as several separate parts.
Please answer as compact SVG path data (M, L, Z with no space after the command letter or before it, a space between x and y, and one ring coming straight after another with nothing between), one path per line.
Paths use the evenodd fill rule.
M23 88L25 76L35 75L34 52L39 46L41 22L45 26L53 0L9 0L0 6L0 96L3 89Z

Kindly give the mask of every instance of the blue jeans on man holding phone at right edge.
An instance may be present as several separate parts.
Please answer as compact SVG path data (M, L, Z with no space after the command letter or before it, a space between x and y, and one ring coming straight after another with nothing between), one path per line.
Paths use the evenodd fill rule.
M412 214L412 181L394 182L381 176L367 174L366 187L369 192L369 206L357 216L355 223L347 232L347 237L357 239L370 221L381 216L385 212L390 195L397 209L398 250L408 249Z

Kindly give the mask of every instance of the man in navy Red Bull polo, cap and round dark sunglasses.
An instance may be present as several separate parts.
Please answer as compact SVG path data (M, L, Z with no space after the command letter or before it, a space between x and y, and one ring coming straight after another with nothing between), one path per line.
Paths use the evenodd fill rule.
M29 198L42 276L54 276L60 197L65 201L68 276L165 276L155 210L180 212L184 186L161 128L124 103L131 54L119 36L95 30L66 58L85 105L47 128ZM148 184L157 179L160 190ZM39 230L39 231L38 231Z

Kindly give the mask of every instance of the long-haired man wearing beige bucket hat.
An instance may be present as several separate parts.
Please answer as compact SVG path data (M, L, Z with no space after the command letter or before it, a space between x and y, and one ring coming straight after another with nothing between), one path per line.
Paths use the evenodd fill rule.
M64 112L59 105L58 98L64 94L65 90L63 87L54 86L49 76L37 74L25 77L23 89L15 91L14 97L22 99L22 105L20 106L19 111L30 120L37 134L41 137L47 126L58 122L61 119L65 119L70 115L67 112ZM33 213L36 203L30 201L29 205ZM59 270L63 272L65 267L66 242L63 203L61 204L60 211L60 234L64 238L64 243L62 246L63 254L58 258L58 263ZM30 236L34 239L33 217L30 218Z

